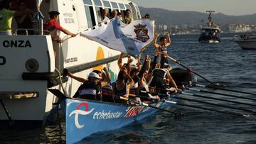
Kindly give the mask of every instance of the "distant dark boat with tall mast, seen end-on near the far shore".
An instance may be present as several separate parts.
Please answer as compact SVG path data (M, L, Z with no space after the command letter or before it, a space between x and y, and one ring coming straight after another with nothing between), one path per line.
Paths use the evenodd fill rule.
M215 11L206 11L209 13L208 23L206 27L201 28L201 35L198 39L199 43L220 43L220 28L213 23L211 13Z

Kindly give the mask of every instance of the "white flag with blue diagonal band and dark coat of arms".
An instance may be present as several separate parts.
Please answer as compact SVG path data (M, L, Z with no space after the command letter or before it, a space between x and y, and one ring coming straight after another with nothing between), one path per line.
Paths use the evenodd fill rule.
M85 31L81 35L134 57L154 40L154 21L149 19L132 21L126 25L119 18L114 18L107 25L102 25L104 26Z

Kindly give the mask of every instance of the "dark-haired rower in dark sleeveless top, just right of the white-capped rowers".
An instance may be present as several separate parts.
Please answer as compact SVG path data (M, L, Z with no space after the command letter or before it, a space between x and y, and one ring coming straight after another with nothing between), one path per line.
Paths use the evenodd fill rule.
M128 79L125 82L125 79ZM132 77L127 74L127 70L121 70L118 73L117 81L112 84L114 92L114 101L117 103L128 104L129 88L134 85Z

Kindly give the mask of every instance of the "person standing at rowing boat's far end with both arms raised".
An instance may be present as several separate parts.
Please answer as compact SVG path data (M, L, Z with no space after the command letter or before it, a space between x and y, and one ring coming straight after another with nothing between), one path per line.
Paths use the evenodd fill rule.
M157 38L159 38L159 34L156 34L156 38L154 40L154 47L156 48L156 50L159 50L161 52L161 57L159 57L159 60L160 60L160 64L161 64L161 68L164 67L164 63L169 63L168 62L168 59L167 59L167 56L168 56L168 53L167 53L167 47L169 45L171 45L171 37L170 37L170 34L168 33L167 34L167 37L168 37L168 40L166 40L166 37L161 37L160 38L160 44L157 44L156 41L157 41Z

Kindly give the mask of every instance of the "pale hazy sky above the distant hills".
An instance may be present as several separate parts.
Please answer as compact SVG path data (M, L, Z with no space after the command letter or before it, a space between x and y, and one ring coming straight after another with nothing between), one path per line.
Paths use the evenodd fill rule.
M129 0L137 6L171 11L213 10L215 13L241 16L256 13L256 0Z

